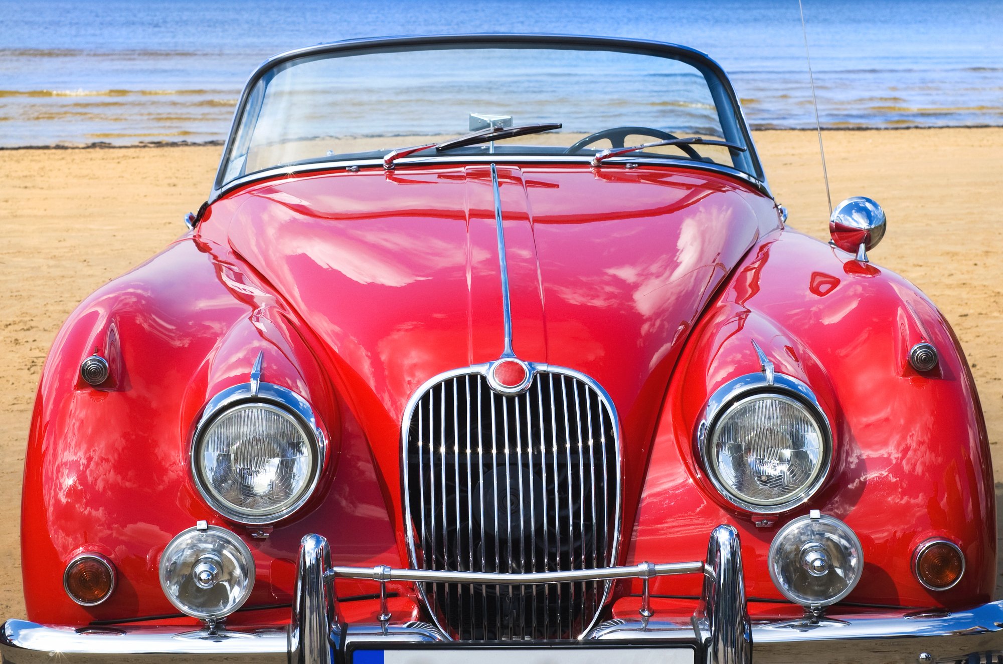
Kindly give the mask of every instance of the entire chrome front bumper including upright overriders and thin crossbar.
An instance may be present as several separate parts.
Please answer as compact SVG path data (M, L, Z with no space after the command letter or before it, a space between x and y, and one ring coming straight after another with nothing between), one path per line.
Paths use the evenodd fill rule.
M698 608L688 621L659 620L648 605L647 580L704 575ZM346 625L332 582L336 577L388 581L530 585L641 578L645 597L637 620L599 624L577 641L469 643L450 641L424 623ZM383 593L385 598L385 593ZM432 650L436 652L431 652ZM474 654L472 651L476 651ZM706 561L642 563L570 572L494 574L344 568L331 565L327 541L303 538L295 602L287 629L241 627L210 631L116 626L72 628L9 620L0 634L3 662L289 662L290 664L420 664L503 661L561 662L937 662L996 663L1003 657L1003 602L968 611L873 612L817 621L751 624L745 606L737 532L714 529Z

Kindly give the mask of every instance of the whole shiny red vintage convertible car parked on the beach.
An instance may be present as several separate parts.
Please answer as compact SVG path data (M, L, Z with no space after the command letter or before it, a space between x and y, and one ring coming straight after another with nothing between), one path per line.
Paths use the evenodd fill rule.
M1000 661L958 342L706 55L284 53L186 222L45 362L4 662Z

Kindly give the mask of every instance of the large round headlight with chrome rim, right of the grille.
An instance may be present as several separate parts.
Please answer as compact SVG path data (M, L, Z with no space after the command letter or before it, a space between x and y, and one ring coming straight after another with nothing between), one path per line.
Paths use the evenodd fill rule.
M810 390L789 376L777 375L776 386L791 389L715 395L701 430L701 453L714 485L755 513L802 503L821 484L831 455L828 423Z

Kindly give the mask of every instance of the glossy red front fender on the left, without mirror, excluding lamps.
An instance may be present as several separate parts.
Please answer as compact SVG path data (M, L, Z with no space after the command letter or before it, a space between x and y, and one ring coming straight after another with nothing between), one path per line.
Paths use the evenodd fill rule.
M191 236L73 312L43 369L25 456L21 547L30 620L85 625L176 614L159 588L159 555L200 520L234 531L251 548L257 581L249 609L291 601L304 532L328 537L346 564L400 566L369 446L303 329L239 260ZM107 356L111 374L98 388L79 374L95 350ZM262 381L307 399L329 442L313 497L267 539L220 517L190 470L192 434L207 400L248 382L259 353ZM346 474L351 481L339 482ZM359 531L367 537L339 537ZM114 592L97 606L78 606L62 587L66 564L81 551L107 556L117 571ZM339 583L343 595L372 592L372 584Z

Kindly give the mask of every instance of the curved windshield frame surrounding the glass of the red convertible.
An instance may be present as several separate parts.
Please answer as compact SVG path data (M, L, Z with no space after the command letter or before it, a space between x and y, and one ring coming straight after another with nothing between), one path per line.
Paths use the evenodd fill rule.
M738 102L738 97L735 94L734 88L731 86L731 81L729 80L724 69L721 68L713 58L708 56L706 53L699 51L694 48L689 48L687 46L680 46L678 44L670 44L666 42L654 41L654 40L644 40L644 39L625 39L621 37L595 37L595 36L583 36L583 35L567 35L567 34L500 34L500 33L485 33L485 34L454 34L454 35L430 35L430 36L412 36L412 37L379 37L374 39L349 39L339 42L317 44L314 46L307 46L304 48L297 48L293 50L286 51L284 53L278 53L272 57L267 58L262 62L258 68L251 74L247 83L244 86L244 90L241 92L241 97L234 108L234 118L231 122L230 132L227 135L227 140L223 146L223 151L220 157L220 167L217 171L216 178L213 181L213 189L210 193L208 203L212 205L221 196L227 192L232 191L236 187L241 186L243 181L247 180L247 177L239 181L232 181L230 183L223 183L223 178L226 175L227 161L230 156L231 148L233 147L237 138L237 128L241 117L244 114L244 110L248 104L251 92L258 81L265 76L269 70L277 67L283 63L287 63L291 60L314 56L320 57L323 55L345 55L351 54L352 51L361 52L373 52L377 50L403 50L407 48L417 48L422 46L431 47L465 47L465 48L497 48L505 46L514 46L517 44L526 44L527 46L541 46L541 47L554 47L554 48L569 48L573 46L579 46L585 49L592 50L611 50L627 53L638 53L652 55L655 57L665 57L670 59L680 60L691 66L697 68L697 70L704 73L704 75L713 76L717 83L719 84L719 90L724 95L725 98L720 100L715 99L715 105L721 105L721 102L726 99L729 110L734 123L733 129L736 130L742 141L746 145L748 151L748 165L751 167L755 177L746 175L737 170L727 169L709 169L712 171L718 171L721 173L729 173L729 175L735 176L737 174L739 178L748 181L754 187L762 191L769 198L773 198L772 194L769 192L769 186L766 184L765 176L763 175L762 164L759 162L758 155L756 153L754 143L752 142L751 131L748 128L748 122L745 119L744 111L741 104ZM730 124L730 123L729 123ZM727 136L726 136L727 137ZM496 154L486 154L487 160L492 160L496 157ZM585 162L588 162L591 157L585 157ZM521 159L516 159L518 162ZM636 160L636 159L633 159ZM366 160L370 161L370 160ZM374 165L381 165L382 159L372 159ZM631 162L631 158L624 159L625 163ZM459 163L472 163L477 162L470 158L458 158L454 162ZM709 164L703 163L702 165L697 165L698 162L691 162L689 165L691 168L700 169L705 168ZM361 165L358 163L357 165ZM278 168L274 171L282 173L290 173L288 168Z

